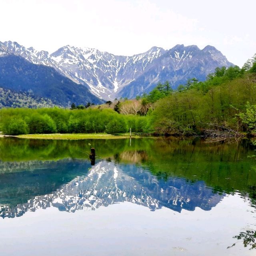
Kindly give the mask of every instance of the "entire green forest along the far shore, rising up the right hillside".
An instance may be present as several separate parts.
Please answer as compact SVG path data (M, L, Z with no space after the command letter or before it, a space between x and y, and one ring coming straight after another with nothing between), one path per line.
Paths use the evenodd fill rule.
M256 57L238 66L216 68L206 81L189 79L173 91L169 82L157 84L134 100L115 99L102 105L60 108L3 108L4 134L133 132L204 134L209 125L256 132Z

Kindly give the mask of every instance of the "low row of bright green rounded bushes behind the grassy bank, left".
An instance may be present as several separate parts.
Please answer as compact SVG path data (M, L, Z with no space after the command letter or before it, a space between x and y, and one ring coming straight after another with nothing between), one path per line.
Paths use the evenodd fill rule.
M3 134L146 132L144 116L120 115L111 109L4 108L0 110Z

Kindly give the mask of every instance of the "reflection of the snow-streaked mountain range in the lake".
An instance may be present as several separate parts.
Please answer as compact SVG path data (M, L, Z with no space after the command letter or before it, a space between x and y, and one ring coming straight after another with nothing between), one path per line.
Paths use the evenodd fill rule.
M200 207L210 210L223 198L214 194L204 182L188 182L185 179L157 179L135 165L117 165L102 161L86 176L74 178L62 185L57 192L36 196L24 204L1 212L3 218L22 216L38 208L57 207L60 211L95 210L117 202L133 202L151 210L168 207L180 212Z

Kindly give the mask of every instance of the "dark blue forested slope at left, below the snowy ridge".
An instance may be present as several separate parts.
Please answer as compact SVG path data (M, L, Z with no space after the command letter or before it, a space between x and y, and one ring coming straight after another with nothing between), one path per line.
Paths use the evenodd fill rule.
M0 85L5 89L32 92L61 106L72 102L100 102L85 86L62 76L54 68L32 64L14 54L0 56Z

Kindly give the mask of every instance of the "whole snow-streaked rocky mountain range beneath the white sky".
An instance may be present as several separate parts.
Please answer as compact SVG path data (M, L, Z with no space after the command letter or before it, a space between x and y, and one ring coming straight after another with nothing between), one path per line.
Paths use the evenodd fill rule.
M213 46L200 50L183 44L170 50L152 47L142 54L116 56L69 45L49 54L16 42L0 42L0 54L7 53L20 55L34 64L51 66L105 100L120 96L133 98L166 80L176 88L189 78L204 80L218 66L232 65Z

